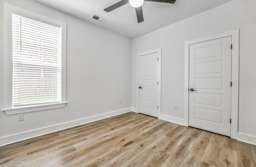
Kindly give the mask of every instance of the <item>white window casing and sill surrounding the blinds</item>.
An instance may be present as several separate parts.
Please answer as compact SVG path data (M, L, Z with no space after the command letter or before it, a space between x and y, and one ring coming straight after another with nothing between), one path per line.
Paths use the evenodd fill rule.
M61 101L24 107L12 106L12 14L59 26L61 32ZM7 115L65 107L66 101L66 23L4 2L4 109Z

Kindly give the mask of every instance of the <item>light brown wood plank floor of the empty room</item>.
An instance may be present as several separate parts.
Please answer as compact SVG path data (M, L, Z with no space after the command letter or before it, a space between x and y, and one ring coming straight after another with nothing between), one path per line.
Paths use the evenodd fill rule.
M0 166L256 167L256 146L129 112L0 147Z

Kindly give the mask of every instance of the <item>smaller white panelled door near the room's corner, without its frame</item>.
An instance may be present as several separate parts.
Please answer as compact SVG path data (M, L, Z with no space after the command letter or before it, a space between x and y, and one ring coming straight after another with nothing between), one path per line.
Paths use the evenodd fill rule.
M139 56L139 113L158 117L158 52Z

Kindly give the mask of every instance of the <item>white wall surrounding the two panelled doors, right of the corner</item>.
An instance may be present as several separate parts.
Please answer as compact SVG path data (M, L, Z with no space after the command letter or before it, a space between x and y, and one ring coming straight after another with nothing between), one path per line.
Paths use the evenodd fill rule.
M162 114L183 120L184 43L240 28L239 132L241 140L251 137L248 142L256 144L255 7L255 0L233 0L132 40L132 107L137 101L136 54L162 48Z

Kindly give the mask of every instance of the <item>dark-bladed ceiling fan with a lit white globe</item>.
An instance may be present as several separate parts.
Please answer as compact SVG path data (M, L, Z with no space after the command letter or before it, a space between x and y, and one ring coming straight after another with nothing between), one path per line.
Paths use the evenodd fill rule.
M137 20L138 20L138 23L140 23L144 21L143 12L142 12L142 4L144 1L161 2L161 3L168 3L168 4L174 4L176 2L176 0L120 0L119 2L109 6L104 10L106 12L110 12L116 8L119 8L125 4L130 3L130 5L135 8Z

